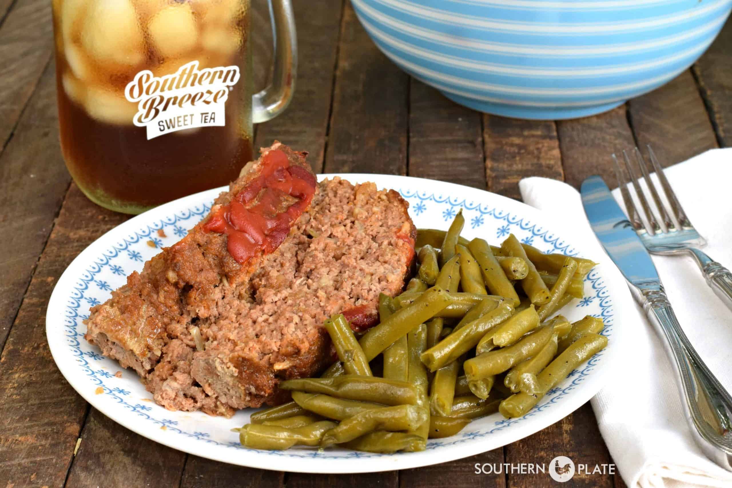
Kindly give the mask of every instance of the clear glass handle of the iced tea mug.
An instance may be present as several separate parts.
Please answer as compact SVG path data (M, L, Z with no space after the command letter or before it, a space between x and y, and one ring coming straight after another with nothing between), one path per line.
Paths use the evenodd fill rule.
M297 36L290 0L269 0L269 16L275 37L272 53L272 83L252 97L252 121L273 119L285 110L295 91Z

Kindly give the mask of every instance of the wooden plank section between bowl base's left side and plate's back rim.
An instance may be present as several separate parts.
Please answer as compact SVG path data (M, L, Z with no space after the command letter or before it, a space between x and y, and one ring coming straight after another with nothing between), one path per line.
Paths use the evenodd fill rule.
M485 189L481 116L411 78L409 176Z

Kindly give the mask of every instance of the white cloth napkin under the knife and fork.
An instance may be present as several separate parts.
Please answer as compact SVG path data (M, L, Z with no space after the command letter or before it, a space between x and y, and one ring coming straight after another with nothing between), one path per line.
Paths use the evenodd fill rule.
M713 149L665 170L695 228L709 244L703 250L732 268L732 149ZM655 175L651 176L654 181ZM537 209L561 211L564 222L584 239L583 254L604 252L587 222L579 192L545 178L519 183L523 201ZM632 192L632 190L631 190ZM619 189L613 196L624 208ZM732 391L732 311L704 281L692 258L653 256L681 327L722 385ZM609 266L609 265L606 265ZM732 487L732 473L707 459L692 439L676 388L673 364L666 357L640 307L623 308L627 338L607 385L592 399L600 432L629 488Z

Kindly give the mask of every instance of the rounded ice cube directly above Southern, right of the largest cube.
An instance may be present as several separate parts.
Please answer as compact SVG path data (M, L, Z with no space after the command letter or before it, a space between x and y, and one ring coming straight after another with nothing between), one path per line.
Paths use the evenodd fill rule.
M174 4L157 12L147 26L153 45L163 57L176 57L192 50L198 29L190 4Z

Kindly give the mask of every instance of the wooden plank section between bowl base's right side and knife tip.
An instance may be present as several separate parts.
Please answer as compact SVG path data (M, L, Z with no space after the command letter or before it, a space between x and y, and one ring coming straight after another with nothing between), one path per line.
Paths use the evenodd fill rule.
M584 119L557 121L564 181L579 188L584 179L600 175L610 188L618 186L610 154L635 146L624 105Z

